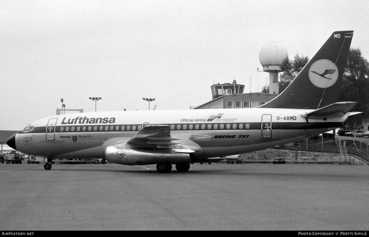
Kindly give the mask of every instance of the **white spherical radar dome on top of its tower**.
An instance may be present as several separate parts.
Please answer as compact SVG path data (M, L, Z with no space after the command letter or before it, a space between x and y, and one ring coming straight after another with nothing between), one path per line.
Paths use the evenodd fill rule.
M263 70L280 70L282 61L288 57L287 49L278 42L269 42L261 48L259 61Z

